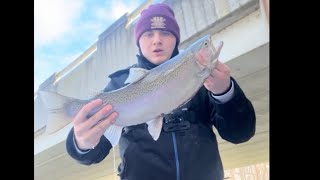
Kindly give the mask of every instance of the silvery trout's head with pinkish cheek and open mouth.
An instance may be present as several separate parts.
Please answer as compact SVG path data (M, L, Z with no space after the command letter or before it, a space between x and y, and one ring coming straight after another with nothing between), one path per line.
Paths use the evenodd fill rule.
M210 35L204 36L195 42L193 50L195 60L201 69L213 69L218 61L218 57L223 46L220 42L216 49Z

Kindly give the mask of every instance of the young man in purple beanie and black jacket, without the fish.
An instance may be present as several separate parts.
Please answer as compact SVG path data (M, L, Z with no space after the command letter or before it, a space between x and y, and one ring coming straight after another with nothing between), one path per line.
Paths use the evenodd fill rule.
M156 19L161 23L155 23ZM134 36L139 55L138 63L131 67L152 69L179 53L180 29L174 12L165 4L151 5L141 12ZM131 67L111 74L105 91L123 87ZM95 100L84 106L67 138L69 155L82 164L101 162L115 144L114 137L105 137L104 132L118 113L97 124L113 111L111 105L87 118L88 112L101 105L101 100ZM181 128L180 123L190 126ZM212 126L226 141L242 143L255 134L255 124L251 102L230 77L229 67L218 62L191 101L164 118L163 126L174 127L172 131L163 128L154 141L146 123L123 129L119 176L122 180L222 180L223 166Z

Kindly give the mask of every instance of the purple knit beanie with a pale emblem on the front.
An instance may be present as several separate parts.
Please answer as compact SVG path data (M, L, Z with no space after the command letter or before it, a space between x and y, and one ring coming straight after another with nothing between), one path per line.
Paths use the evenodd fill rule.
M173 10L166 4L150 5L144 9L134 28L134 38L136 45L139 38L145 31L161 29L171 32L177 39L176 46L180 43L180 28L175 19Z

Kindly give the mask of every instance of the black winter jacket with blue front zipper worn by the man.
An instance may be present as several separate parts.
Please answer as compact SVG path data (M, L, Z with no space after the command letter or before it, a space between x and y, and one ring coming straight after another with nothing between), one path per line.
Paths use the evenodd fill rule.
M143 67L140 64L134 66ZM129 68L111 74L105 91L123 87L128 73ZM253 137L256 125L251 102L237 82L231 80L234 84L231 100L221 104L203 86L191 101L164 118L157 141L152 139L145 123L125 127L119 142L122 162L118 172L121 179L222 180L223 166L212 125L224 140L235 144ZM82 164L102 161L112 148L102 136L95 149L79 154L73 136L71 129L66 142L67 152Z

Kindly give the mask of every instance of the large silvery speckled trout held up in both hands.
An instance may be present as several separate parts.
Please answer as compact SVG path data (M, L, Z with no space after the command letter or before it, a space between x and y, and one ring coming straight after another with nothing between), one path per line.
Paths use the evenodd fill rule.
M87 100L40 91L49 112L46 132L51 134L63 128L85 104L100 98L103 106L110 103L119 113L115 123L104 133L106 137L113 135L118 142L123 127L147 123L150 135L157 140L164 115L184 105L197 93L215 68L222 46L221 42L215 49L211 36L204 36L152 70L131 68L126 86ZM94 109L90 115L102 107Z

